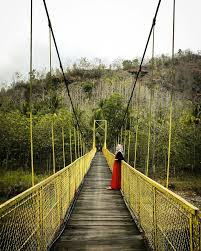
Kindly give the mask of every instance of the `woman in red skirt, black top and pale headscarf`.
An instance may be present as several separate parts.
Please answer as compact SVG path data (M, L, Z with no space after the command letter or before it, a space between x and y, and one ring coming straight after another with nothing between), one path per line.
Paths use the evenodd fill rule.
M112 181L108 189L119 190L121 189L121 161L123 157L123 146L118 144L115 152L115 159L112 168Z

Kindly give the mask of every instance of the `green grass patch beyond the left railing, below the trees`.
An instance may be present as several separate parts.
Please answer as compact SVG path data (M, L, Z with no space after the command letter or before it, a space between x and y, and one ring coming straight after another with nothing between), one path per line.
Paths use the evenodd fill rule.
M47 178L36 175L35 184ZM16 196L31 187L31 173L22 170L3 171L0 179L0 203Z

